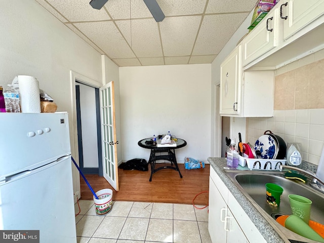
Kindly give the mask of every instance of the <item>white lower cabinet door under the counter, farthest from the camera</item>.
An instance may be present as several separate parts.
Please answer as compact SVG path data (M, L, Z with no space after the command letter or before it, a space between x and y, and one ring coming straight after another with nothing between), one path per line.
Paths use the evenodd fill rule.
M209 178L208 210L208 231L212 242L226 242L224 221L227 216L227 205L211 177Z

